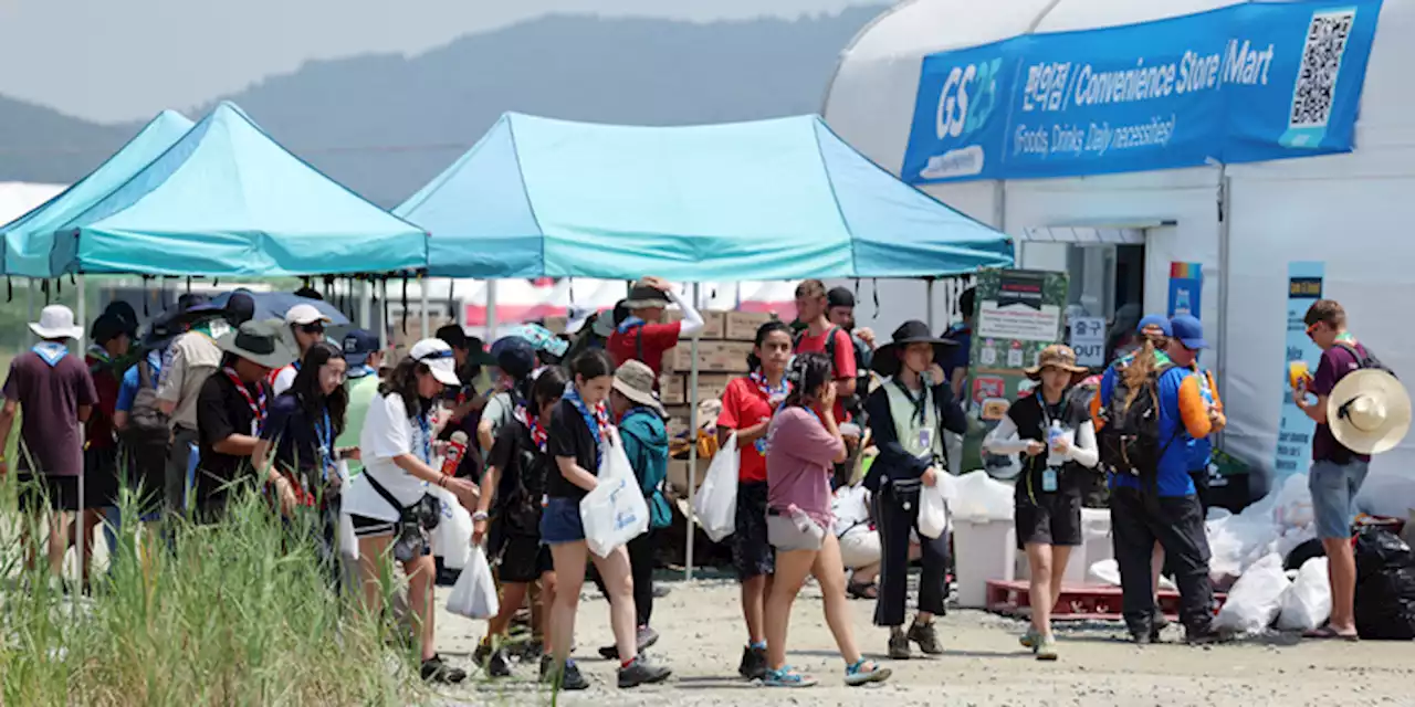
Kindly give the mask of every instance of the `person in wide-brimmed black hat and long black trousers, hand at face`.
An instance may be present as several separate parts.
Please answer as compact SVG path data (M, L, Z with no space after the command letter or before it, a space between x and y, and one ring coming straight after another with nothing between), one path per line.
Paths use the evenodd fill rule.
M884 383L865 403L879 457L865 477L874 495L874 519L883 554L874 625L889 626L889 656L910 658L910 643L927 655L942 653L934 617L948 600L948 533L920 536L924 570L918 578L918 614L904 631L908 600L910 534L918 530L923 486L935 486L948 472L944 431L962 434L966 419L938 361L952 342L934 337L921 321L906 321L893 341L874 352L872 368Z

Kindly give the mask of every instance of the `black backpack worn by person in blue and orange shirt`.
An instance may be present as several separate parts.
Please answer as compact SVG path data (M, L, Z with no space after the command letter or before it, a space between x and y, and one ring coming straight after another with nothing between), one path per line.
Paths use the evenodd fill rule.
M1159 433L1159 376L1170 368L1172 363L1155 366L1133 400L1129 400L1131 390L1125 383L1124 369L1116 368L1109 404L1102 406L1099 414L1102 427L1097 433L1097 443L1101 464L1108 471L1140 478L1150 491L1155 491L1159 479L1160 458L1179 437L1177 428L1169 440L1160 440Z

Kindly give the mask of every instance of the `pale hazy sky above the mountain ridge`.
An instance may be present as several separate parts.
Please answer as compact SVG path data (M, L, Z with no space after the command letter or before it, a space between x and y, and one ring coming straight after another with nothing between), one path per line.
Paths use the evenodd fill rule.
M0 93L93 120L149 117L306 59L417 54L548 13L695 21L882 0L0 0Z

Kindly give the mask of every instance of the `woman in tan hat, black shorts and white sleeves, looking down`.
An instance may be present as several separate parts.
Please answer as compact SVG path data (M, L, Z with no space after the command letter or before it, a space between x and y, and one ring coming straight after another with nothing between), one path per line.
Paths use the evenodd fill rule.
M1007 407L1007 414L983 440L993 454L1023 454L1016 485L1017 549L1027 553L1032 587L1032 625L1022 636L1037 660L1056 660L1051 608L1061 598L1071 549L1081 544L1081 488L1099 461L1095 426L1084 396L1073 396L1090 370L1075 352L1053 344L1026 375L1039 387Z

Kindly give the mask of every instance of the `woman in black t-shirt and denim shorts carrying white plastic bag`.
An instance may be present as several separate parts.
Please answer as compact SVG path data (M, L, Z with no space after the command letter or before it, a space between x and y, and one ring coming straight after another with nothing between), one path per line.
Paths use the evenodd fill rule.
M644 505L623 448L614 447L616 434L606 403L614 383L614 365L603 349L593 349L570 362L570 373L573 378L565 386L563 397L550 410L546 451L555 460L556 469L546 474L546 505L541 512L541 540L550 546L558 583L550 611L550 642L555 650L546 680L562 690L589 687L589 682L570 660L570 646L574 642L574 615L579 611L580 588L584 585L584 566L593 560L611 597L610 625L620 650L620 687L661 683L671 670L640 658L635 645L634 580L630 575L628 553L624 547L614 547L604 556L591 554L582 516L582 502L601 484L606 489L613 485L613 491L621 493L627 484L638 503ZM591 505L604 495L606 491L597 493ZM647 520L647 505L644 516Z

